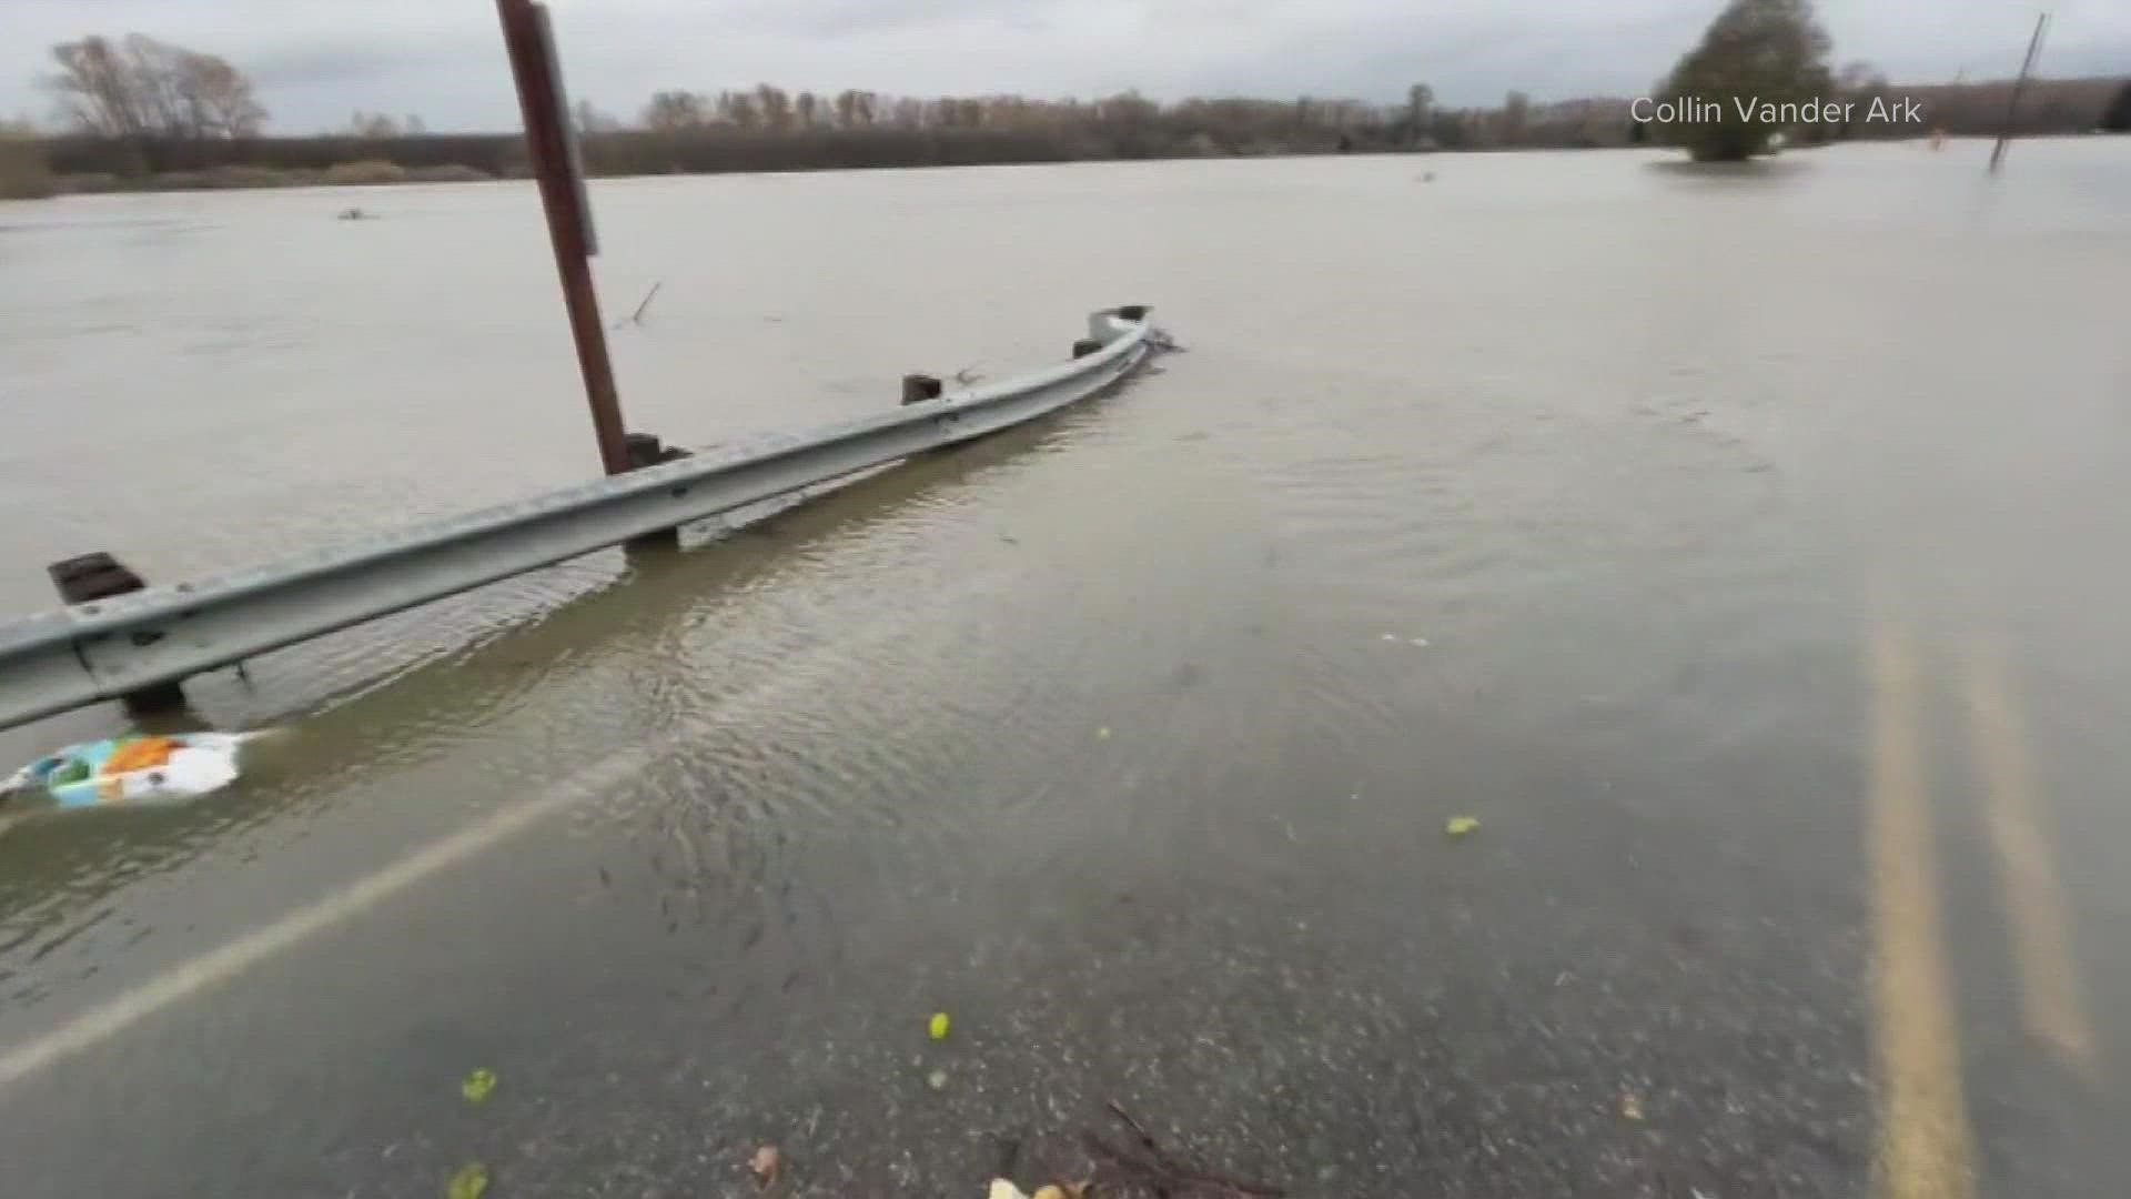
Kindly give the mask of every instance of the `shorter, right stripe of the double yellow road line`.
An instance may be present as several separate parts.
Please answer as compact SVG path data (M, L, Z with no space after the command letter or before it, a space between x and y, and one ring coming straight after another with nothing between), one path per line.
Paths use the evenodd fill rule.
M2071 915L2050 849L2048 798L2035 785L2027 721L2012 698L2003 651L1971 642L1961 655L1961 676L1969 745L1984 781L1984 824L2012 913L2022 1020L2029 1035L2093 1080L2095 1030L2073 966Z

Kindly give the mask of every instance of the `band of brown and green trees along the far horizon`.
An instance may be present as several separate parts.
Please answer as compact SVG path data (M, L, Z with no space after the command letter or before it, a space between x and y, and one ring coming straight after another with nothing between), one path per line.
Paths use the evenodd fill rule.
M1803 141L1997 132L2010 83L1894 87L1867 64L1831 70L1833 45L1809 0L1730 0L1654 96L1752 94L1762 98L1912 96L1924 128L1850 126L1799 130ZM30 194L36 173L77 181L158 177L179 186L256 186L271 173L315 181L352 162L364 179L418 171L460 177L518 175L516 134L433 134L418 115L356 111L343 130L266 137L269 113L254 83L228 60L145 34L85 36L51 49L58 70L43 83L64 130L0 126L0 196ZM1315 98L1185 98L1138 92L1078 98L893 96L865 90L786 92L661 90L633 122L592 102L573 109L586 169L597 175L697 171L801 171L1063 162L1102 158L1221 158L1338 151L1681 145L1696 158L1747 158L1786 132L1769 122L1728 128L1639 124L1626 98L1534 102L1509 92L1500 107L1438 107L1415 83L1404 102ZM2037 81L2014 115L2014 132L2131 128L2131 83ZM9 186L15 179L15 186ZM28 183L23 183L28 179Z

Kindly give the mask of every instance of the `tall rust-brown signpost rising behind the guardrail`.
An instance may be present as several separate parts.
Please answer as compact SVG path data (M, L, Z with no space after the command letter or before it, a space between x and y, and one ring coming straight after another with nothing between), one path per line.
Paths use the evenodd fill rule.
M554 243L554 269L563 277L563 307L569 309L569 333L578 343L578 369L584 373L584 399L592 407L592 433L599 437L599 463L607 474L629 469L629 442L622 431L622 401L614 390L614 363L607 361L607 335L599 322L599 294L592 290L592 265L599 250L592 237L592 213L584 198L584 171L573 154L575 141L567 126L563 70L554 55L554 32L546 4L535 0L497 0L503 21L503 47L511 58L511 79L518 81L518 111L526 126L526 158L539 179L539 203L548 213L548 241Z

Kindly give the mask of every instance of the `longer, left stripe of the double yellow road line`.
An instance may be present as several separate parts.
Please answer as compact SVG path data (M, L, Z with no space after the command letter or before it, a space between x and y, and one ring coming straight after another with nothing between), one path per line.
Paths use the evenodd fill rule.
M1880 1195L1973 1199L1975 1167L1939 930L1916 651L1882 621L1871 642L1873 1016Z

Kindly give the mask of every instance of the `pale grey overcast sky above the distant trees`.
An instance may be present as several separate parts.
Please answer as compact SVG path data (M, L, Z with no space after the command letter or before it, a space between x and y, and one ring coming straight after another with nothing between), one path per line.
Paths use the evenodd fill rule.
M1637 96L1720 0L554 0L573 98L661 87L1357 96L1445 105ZM2131 75L2131 0L2050 0L2046 75ZM1820 0L1839 62L1897 81L2018 68L2033 2ZM47 47L145 32L251 75L273 128L354 109L516 128L492 0L0 0L0 115L49 117Z

